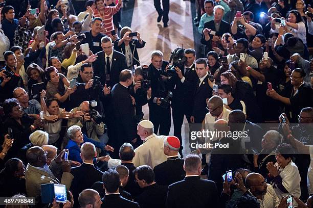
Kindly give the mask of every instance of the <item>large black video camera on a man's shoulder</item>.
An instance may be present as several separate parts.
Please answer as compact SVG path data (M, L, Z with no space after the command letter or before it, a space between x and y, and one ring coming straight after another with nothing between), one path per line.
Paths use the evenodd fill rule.
M185 49L184 48L176 48L172 51L169 63L172 65L168 66L167 76L174 76L176 74L175 67L178 66L180 68L184 67L185 62L187 61L185 57Z

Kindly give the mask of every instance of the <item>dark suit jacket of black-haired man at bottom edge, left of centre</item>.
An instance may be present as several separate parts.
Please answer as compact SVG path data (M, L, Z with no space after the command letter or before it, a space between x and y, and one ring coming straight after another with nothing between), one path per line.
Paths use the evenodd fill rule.
M125 198L123 198L120 194L110 194L105 195L101 201L103 202L101 204L101 208L138 208L139 205L136 202L129 201Z

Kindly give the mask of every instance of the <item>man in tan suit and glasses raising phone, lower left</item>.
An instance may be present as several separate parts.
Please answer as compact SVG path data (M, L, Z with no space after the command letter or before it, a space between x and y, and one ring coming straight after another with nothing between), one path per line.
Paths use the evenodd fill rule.
M70 189L74 176L71 174L71 164L62 160L65 149L47 165L47 154L41 147L35 146L27 150L26 158L29 164L26 167L26 192L28 197L41 196L41 184L63 184ZM62 164L62 167L61 167ZM57 175L62 168L61 182Z

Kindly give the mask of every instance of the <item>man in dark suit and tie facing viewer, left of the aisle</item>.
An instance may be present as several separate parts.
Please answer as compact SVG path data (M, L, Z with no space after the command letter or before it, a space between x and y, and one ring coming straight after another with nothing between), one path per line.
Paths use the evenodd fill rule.
M113 50L110 37L101 39L103 51L97 53L98 58L93 63L94 75L100 77L100 82L104 86L113 87L119 83L119 75L123 69L127 69L126 58L120 52Z

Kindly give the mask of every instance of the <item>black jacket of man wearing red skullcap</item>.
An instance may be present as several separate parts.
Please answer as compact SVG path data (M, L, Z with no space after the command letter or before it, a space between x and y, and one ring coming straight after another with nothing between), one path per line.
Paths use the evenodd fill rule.
M184 159L178 157L168 158L167 161L155 166L154 181L159 185L169 186L184 179Z

